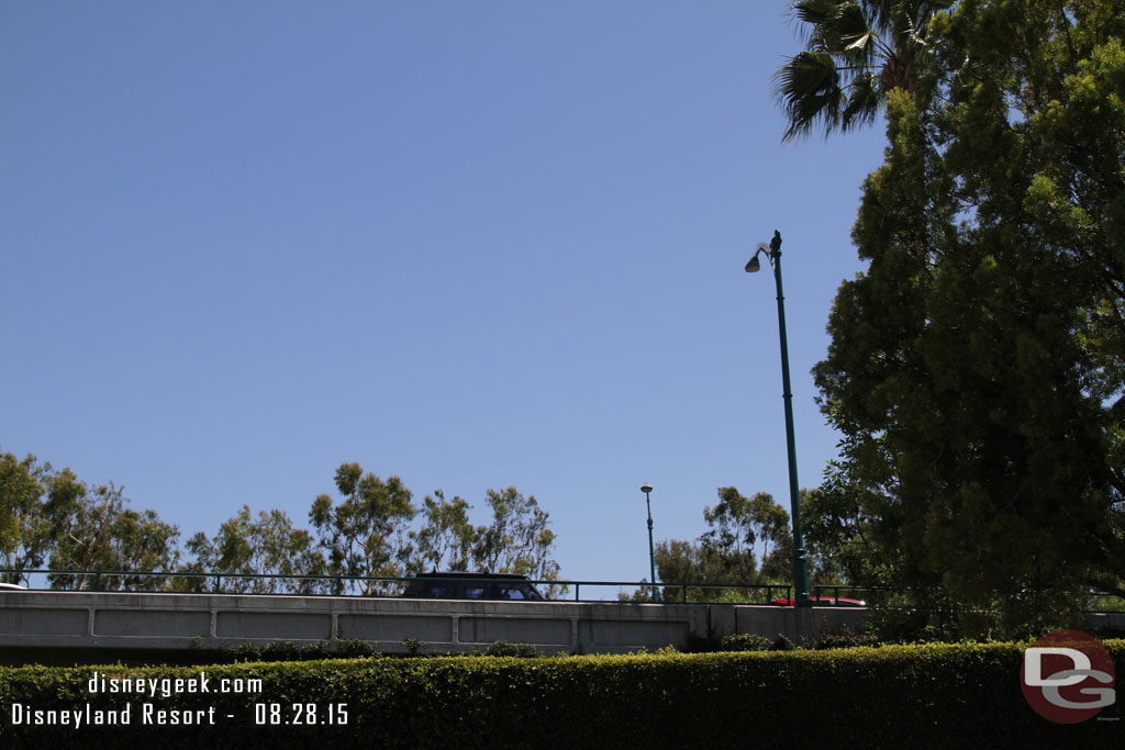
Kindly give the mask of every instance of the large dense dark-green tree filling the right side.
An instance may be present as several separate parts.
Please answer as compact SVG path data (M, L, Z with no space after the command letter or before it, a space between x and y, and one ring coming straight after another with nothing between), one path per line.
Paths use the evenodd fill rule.
M1117 2L966 0L888 96L809 531L861 582L943 591L962 634L1125 591L1123 34Z

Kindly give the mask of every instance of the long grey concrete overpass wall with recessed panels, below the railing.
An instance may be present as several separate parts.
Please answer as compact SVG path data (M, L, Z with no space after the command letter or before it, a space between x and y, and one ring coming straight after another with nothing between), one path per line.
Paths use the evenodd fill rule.
M416 639L430 652L508 641L543 653L623 653L731 633L800 643L858 632L864 615L852 607L0 591L0 650L182 653L356 639L402 652Z

